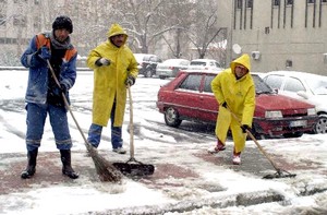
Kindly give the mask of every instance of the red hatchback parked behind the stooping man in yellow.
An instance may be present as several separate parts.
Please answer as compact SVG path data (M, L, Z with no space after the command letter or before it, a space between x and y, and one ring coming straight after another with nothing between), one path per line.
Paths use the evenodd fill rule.
M217 71L180 71L158 92L157 107L166 124L178 128L182 120L216 123L218 103L210 83ZM255 136L299 138L316 123L314 105L276 94L257 74L252 74L256 106L252 132Z

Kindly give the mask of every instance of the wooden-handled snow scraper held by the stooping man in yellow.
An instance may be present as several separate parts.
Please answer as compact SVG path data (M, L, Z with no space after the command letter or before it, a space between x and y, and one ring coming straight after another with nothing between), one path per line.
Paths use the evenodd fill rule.
M242 126L240 119L238 118L238 116L232 112L228 107L227 109L229 110L229 112L232 115L232 117L239 122L240 126ZM256 144L256 146L259 148L259 151L263 153L263 155L265 155L265 157L270 162L271 166L275 168L276 172L275 174L269 174L267 176L264 176L264 179L274 179L274 178L293 178L296 175L295 174L290 174L287 170L280 169L277 167L277 165L275 164L275 162L271 159L270 156L268 156L268 154L266 153L266 151L261 146L261 144L257 142L257 140L254 138L254 135L251 133L251 131L249 131L249 129L245 130L247 135L253 140L253 142Z

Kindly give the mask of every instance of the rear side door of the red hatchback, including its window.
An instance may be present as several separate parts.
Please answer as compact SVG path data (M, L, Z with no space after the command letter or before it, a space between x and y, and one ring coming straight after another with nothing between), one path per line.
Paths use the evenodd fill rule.
M190 73L175 88L173 103L179 104L180 117L197 119L202 74Z

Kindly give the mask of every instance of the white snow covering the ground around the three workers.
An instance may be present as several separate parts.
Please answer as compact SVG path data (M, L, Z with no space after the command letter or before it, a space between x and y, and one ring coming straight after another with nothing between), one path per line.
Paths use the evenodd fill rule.
M25 165L25 116L24 95L27 71L0 71L0 171L9 165L22 162ZM135 157L156 166L155 175L144 179L123 178L121 183L101 182L95 176L93 162L85 156L85 145L74 121L69 116L72 163L80 172L76 180L65 179L51 172L60 180L55 183L41 179L45 169L44 157L38 160L35 179L22 180L28 183L24 189L8 187L11 192L0 192L0 214L324 214L327 213L327 140L325 134L304 134L300 139L269 139L258 142L274 155L278 164L287 160L294 178L266 180L262 176L275 172L267 159L259 159L259 151L253 141L246 142L241 167L229 165L232 140L227 142L229 152L223 155L205 155L216 139L213 132L203 131L199 124L185 123L180 129L168 128L164 117L156 109L156 95L160 85L169 80L140 76L132 87ZM76 84L70 91L72 110L85 135L92 120L93 73L78 72ZM129 105L123 126L124 147L129 148ZM192 126L192 129L187 127ZM193 131L195 130L195 131ZM109 128L102 132L99 153L109 160L128 160L126 155L111 152ZM39 156L56 153L49 121ZM225 153L225 152L223 152ZM249 154L246 154L249 153ZM251 154L250 154L251 153ZM14 154L14 157L5 155ZM197 155L197 156L195 156ZM57 155L55 155L56 157ZM4 158L3 158L4 157ZM204 158L205 157L205 158ZM211 159L211 160L209 160ZM257 159L257 160L255 160ZM214 160L214 162L213 162ZM223 165L216 163L222 162ZM267 164L259 167L261 160ZM251 164L251 165L250 165ZM22 166L24 169L25 166ZM58 160L60 168L60 162ZM55 166L56 166L55 165ZM162 170L160 167L168 165ZM86 172L82 167L90 171ZM172 168L177 171L172 171ZM171 169L170 169L171 168ZM20 178L21 170L9 171L12 178ZM165 175L166 174L166 175ZM179 175L187 177L180 177ZM62 178L61 178L62 177ZM27 182L26 182L27 181ZM8 181L2 181L8 182ZM2 189L3 187L0 187ZM205 188L205 189L204 189ZM1 191L1 190L0 190ZM242 204L242 196L265 198L281 195L283 200ZM253 200L254 201L254 200ZM244 202L244 201L243 201ZM238 204L235 204L238 203Z

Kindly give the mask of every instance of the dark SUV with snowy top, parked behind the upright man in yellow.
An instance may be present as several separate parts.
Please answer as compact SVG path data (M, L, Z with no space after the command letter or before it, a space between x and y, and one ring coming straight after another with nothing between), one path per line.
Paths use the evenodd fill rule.
M145 77L152 77L156 74L156 68L161 59L152 53L134 53L137 61L138 74L143 74Z

